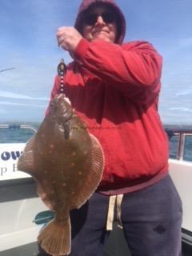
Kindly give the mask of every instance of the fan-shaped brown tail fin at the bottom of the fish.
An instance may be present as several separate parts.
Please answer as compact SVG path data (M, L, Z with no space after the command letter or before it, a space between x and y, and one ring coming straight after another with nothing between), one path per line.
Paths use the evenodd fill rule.
M68 255L71 247L70 215L66 222L54 218L40 231L38 243L51 255Z

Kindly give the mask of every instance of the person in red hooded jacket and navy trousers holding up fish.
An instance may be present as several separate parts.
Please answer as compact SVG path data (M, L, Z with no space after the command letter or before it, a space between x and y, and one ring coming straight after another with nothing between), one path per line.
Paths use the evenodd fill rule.
M56 76L50 100L70 98L105 156L98 190L71 212L71 256L103 255L114 218L132 255L181 255L182 202L158 114L162 57L149 42L123 43L125 32L112 0L82 1L74 27L57 32L74 61Z

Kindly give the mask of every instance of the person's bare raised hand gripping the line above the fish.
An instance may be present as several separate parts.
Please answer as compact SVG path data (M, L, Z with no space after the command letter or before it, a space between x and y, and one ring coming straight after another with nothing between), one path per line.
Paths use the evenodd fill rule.
M61 46L62 49L73 53L78 42L82 39L82 35L79 34L73 26L61 26L57 31L58 46Z

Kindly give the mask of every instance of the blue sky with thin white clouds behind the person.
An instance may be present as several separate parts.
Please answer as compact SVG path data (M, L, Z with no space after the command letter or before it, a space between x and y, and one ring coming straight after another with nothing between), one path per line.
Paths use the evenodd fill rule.
M0 0L0 122L42 122L58 62L71 62L55 34L74 26L80 3ZM151 42L163 57L163 124L192 125L192 0L116 3L126 17L125 42Z

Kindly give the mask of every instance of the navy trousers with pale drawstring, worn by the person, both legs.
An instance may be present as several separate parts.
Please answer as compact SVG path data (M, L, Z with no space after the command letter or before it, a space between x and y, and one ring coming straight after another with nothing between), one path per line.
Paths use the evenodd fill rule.
M95 193L79 210L71 211L70 256L104 255L108 205L107 196ZM181 225L182 202L170 175L124 194L122 226L132 256L181 256Z

